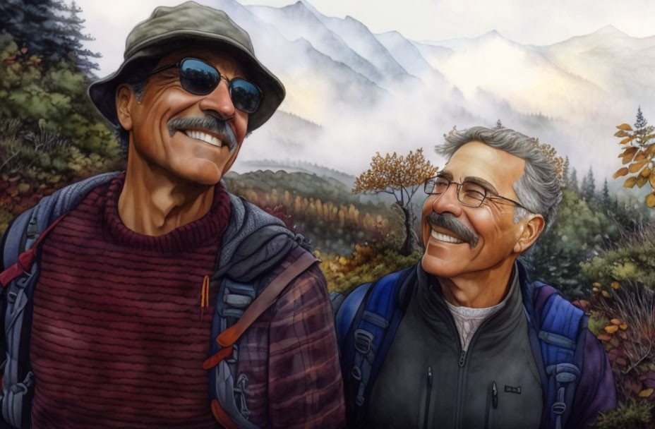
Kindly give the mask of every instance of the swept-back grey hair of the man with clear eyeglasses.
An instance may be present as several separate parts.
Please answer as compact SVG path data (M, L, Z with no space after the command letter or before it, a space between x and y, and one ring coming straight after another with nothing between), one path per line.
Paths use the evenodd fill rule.
M529 213L541 214L546 223L543 232L548 231L557 217L557 207L562 200L562 189L557 178L557 169L536 145L536 140L509 128L484 128L474 126L466 130L453 129L444 135L445 143L435 146L439 155L450 157L463 145L480 141L496 149L504 150L525 161L523 175L514 184L514 191L522 207L515 207L514 222Z

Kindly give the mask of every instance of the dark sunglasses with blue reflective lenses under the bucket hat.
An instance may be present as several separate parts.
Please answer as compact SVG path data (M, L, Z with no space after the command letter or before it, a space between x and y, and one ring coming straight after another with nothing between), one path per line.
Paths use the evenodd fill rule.
M227 82L229 97L234 107L248 114L255 113L263 97L261 90L254 83L242 78L228 79L220 71L197 58L185 58L175 64L156 68L148 73L154 75L169 68L179 68L180 85L194 95L208 95L216 89L221 79Z

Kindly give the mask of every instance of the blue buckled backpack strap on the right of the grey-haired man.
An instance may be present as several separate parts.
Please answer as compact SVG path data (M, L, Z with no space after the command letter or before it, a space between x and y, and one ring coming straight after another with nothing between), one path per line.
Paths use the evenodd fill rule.
M522 267L519 274L545 398L541 427L564 429L582 371L587 316L552 286L529 283Z

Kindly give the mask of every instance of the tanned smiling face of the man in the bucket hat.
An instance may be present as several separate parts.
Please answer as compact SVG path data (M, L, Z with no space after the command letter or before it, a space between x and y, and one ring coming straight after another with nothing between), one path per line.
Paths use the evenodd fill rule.
M244 77L231 56L208 49L174 52L155 68L189 57L215 66L228 79ZM128 120L121 119L121 124L130 132L130 156L142 157L154 167L202 185L218 183L232 167L248 128L248 114L234 107L224 79L210 94L193 95L181 87L177 68L150 75L140 103L130 87L121 85L116 104L119 110L128 109ZM172 127L191 124L194 121L185 120L196 118L225 121L227 128L220 131L221 127L198 125L198 121ZM230 133L233 145L228 144Z

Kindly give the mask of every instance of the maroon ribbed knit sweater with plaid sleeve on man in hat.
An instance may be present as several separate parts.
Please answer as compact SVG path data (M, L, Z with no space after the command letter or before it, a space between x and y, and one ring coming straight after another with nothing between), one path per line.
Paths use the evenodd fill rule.
M126 229L124 175L96 188L42 246L30 361L40 428L219 428L210 411L212 274L229 200L159 237ZM269 277L304 250L296 248ZM318 266L297 277L239 342L251 421L263 428L339 428L344 421L332 307Z

